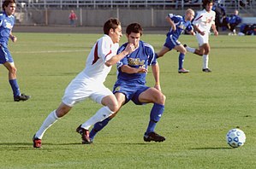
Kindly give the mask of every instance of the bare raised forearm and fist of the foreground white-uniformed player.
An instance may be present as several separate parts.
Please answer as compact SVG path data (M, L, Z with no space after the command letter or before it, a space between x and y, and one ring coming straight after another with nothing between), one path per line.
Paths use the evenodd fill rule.
M109 60L105 61L105 65L107 67L110 67L114 64L116 64L117 61L122 60L123 57L125 57L126 55L132 53L134 51L134 44L128 44L125 48L125 50L123 50L121 53L119 53L118 55L114 55L112 56Z

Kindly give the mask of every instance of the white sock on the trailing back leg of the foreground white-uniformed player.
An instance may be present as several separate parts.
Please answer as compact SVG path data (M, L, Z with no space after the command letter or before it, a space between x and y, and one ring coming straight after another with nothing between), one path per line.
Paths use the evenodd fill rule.
M45 131L51 127L51 125L53 125L55 122L57 122L57 120L59 119L56 115L56 110L52 111L51 114L49 114L47 116L47 118L45 119L43 125L41 125L41 127L39 128L39 131L37 131L35 137L38 137L39 139L42 139L42 137L45 134Z

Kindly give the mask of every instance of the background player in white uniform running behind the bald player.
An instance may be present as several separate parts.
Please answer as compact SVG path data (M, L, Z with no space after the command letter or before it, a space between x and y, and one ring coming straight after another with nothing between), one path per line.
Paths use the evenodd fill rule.
M211 69L208 67L210 44L209 34L212 28L214 35L217 36L218 32L215 26L215 12L212 9L212 0L203 0L204 9L199 11L193 20L193 29L196 32L196 38L199 43L199 49L188 47L184 44L188 52L192 52L196 55L203 56L203 69L205 73L211 73Z

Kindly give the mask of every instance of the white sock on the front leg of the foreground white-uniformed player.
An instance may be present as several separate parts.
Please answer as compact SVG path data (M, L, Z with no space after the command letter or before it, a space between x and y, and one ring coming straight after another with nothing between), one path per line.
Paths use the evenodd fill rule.
M100 108L96 114L94 114L90 119L88 119L85 123L81 125L82 128L89 130L91 125L94 125L95 123L98 123L99 121L102 121L110 116L110 114L113 114L107 106Z

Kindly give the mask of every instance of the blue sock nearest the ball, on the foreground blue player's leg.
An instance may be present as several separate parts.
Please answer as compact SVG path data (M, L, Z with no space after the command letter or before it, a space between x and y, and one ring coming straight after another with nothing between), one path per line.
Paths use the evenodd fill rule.
M164 105L154 103L150 113L150 121L146 129L146 133L155 131L156 125L164 113Z

